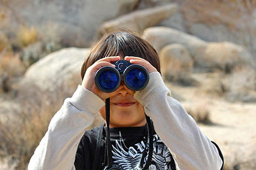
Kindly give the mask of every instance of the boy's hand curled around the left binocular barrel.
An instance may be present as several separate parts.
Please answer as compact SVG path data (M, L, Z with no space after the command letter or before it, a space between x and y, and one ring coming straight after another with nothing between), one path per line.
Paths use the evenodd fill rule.
M117 90L115 92L105 93L97 88L97 86L95 85L95 74L101 67L104 66L110 66L115 68L115 65L112 63L116 60L120 60L120 57L105 57L103 59L97 60L94 64L92 64L92 66L88 67L88 69L86 70L82 81L82 86L99 96L102 100L107 99L111 96L115 96L118 93L116 92Z

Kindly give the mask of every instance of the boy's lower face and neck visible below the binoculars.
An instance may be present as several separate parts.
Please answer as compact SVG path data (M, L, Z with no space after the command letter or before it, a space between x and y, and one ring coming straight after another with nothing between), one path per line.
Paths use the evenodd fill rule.
M110 97L110 127L138 127L146 124L143 106L134 99L134 93L122 82L118 93ZM106 120L105 106L99 113Z

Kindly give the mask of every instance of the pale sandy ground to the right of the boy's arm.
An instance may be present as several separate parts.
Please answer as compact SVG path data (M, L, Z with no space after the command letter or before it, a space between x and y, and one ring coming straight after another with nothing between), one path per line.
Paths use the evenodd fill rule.
M208 81L206 77L204 80ZM223 97L205 94L196 87L166 85L184 108L209 111L212 124L198 126L220 146L225 169L256 169L256 103L230 103Z

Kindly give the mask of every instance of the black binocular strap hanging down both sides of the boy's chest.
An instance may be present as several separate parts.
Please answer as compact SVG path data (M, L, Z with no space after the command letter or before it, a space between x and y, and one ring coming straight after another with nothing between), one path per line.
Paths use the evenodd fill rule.
M111 145L111 141L110 141L110 131L109 131L109 121L110 121L110 99L106 99L106 105L105 105L105 109L106 109L106 152L107 152L107 158L108 158L108 166L105 167L105 169L112 169L113 168L113 159L112 159L112 145ZM148 117L145 114L146 120L147 120L147 137L146 137L146 146L145 149L142 153L142 157L140 160L140 169L142 170L146 170L148 169L148 167L150 166L151 160L152 160L152 155L153 155L153 124L152 121L150 120L150 117ZM99 159L99 148L100 148L100 141L102 139L102 131L103 131L104 125L102 125L102 127L100 127L100 131L99 134L97 136L97 146L96 146L96 150L95 150L95 160ZM148 137L149 137L149 148L148 148L148 159L147 162L145 164L145 166L143 167L144 164L144 160L147 157L147 141L148 141ZM96 166L93 164L93 167Z

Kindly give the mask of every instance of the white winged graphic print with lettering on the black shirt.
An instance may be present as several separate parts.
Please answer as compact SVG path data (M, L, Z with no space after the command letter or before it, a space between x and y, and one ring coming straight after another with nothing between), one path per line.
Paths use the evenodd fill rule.
M112 145L113 153L113 163L122 166L126 169L140 169L139 164L143 150L145 149L145 143L142 140L140 143L136 143L134 146L127 148L125 146L124 140L120 134L120 139L116 140L116 146ZM148 148L148 142L147 142ZM161 141L157 134L153 138L153 157L151 164L148 167L150 170L170 170L170 162L172 160L172 155L169 152L167 146ZM147 157L144 161L147 161Z

